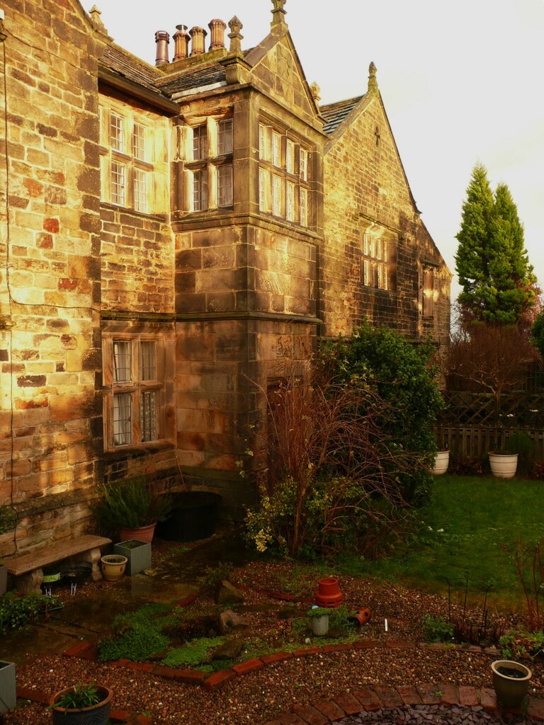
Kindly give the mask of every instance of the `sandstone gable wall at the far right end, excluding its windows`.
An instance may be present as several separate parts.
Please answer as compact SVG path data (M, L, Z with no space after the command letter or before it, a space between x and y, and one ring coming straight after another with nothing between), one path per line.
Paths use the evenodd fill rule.
M323 334L350 334L363 318L418 339L449 332L450 274L411 198L379 94L326 147L325 242L321 249ZM340 129L341 131L341 129ZM373 225L396 242L394 286L363 284L362 234ZM435 273L434 318L422 315L423 271Z

